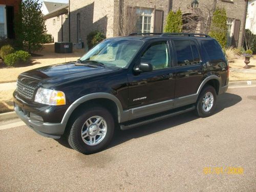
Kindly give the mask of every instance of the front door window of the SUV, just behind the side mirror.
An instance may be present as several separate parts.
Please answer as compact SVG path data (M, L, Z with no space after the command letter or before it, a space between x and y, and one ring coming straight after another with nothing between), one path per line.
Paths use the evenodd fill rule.
M166 41L154 42L142 53L141 62L149 62L153 70L169 68L169 52Z

